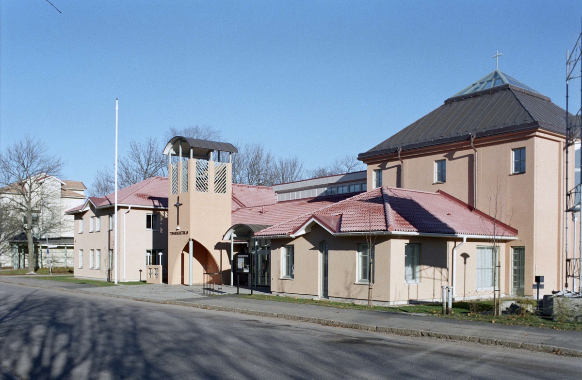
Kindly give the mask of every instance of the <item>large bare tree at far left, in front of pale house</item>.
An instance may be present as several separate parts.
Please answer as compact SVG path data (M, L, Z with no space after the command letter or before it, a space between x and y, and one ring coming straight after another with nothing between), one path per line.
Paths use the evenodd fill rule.
M20 213L17 227L26 233L29 274L34 273L34 235L47 234L62 225L61 173L63 162L47 153L45 145L26 136L0 154L0 197ZM58 192L57 192L58 191Z

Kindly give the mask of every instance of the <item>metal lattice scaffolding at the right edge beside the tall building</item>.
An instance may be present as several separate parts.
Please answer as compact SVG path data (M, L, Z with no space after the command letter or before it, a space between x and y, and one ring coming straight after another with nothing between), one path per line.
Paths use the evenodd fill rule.
M570 81L580 79L580 107L575 115L570 113ZM573 84L577 81L573 81ZM578 104L577 102L572 102ZM576 105L577 106L577 105ZM582 258L582 218L578 218L580 213L580 194L582 192L582 174L576 178L574 176L574 187L570 189L569 184L569 151L574 147L576 151L576 144L580 144L581 137L581 114L582 114L582 33L578 36L578 40L574 45L572 51L566 52L566 223L565 223L565 254L566 254L566 289L569 287L569 279L572 279L572 292L582 293L582 270L580 267ZM574 167L580 165L582 168L582 150L580 151L579 162L576 162L576 154L574 154ZM571 214L571 215L570 215ZM573 221L573 249L572 257L568 257L568 225L570 216ZM580 239L578 245L578 257L576 257L576 224L579 224Z

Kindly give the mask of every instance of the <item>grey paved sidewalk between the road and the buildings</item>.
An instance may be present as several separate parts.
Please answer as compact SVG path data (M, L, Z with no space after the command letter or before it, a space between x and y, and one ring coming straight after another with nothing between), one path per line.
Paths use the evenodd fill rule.
M240 312L261 317L293 319L365 329L410 336L464 340L486 345L501 345L533 351L562 353L582 357L582 332L553 330L528 326L496 325L477 321L459 321L433 315L404 312L338 309L325 306L293 304L277 301L243 299L227 294L218 297L201 297L201 286L134 285L116 287L91 287L81 289L79 284L63 283L34 278L8 278L0 282L21 285L61 288L87 293L127 297L134 300L182 306L208 308L219 311ZM236 287L224 286L225 293L236 293ZM248 289L244 293L249 293Z

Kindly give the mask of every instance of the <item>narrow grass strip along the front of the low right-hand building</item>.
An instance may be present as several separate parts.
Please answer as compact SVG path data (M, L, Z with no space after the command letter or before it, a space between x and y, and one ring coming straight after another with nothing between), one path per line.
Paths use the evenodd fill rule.
M301 299L294 297L283 297L283 296L265 296L262 294L240 294L238 297L250 298L255 300L264 301L279 301L279 302L290 302L299 303L307 305L317 305L317 306L327 306L335 308L344 309L357 309L357 310L378 310L378 311L399 311L399 312L419 312L423 314L434 315L435 317L441 318L454 318L463 319L470 321L482 321L489 323L499 323L504 325L520 325L520 326L534 326L541 328L553 328L557 330L574 330L582 331L582 324L580 323L570 323L570 322L559 322L552 321L551 319L544 319L526 313L523 315L507 314L501 317L495 317L494 315L483 315L480 314L483 311L493 310L493 301L475 301L475 302L453 302L453 314L452 315L442 315L442 304L417 304L417 305L404 305L404 306L374 306L368 308L363 305L354 305L353 303L345 302L333 302L333 301L320 301L311 299ZM530 300L531 301L531 300Z

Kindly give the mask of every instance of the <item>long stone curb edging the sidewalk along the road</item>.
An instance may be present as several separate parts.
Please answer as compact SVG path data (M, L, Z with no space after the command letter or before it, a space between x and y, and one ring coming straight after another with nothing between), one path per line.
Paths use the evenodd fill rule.
M448 333L440 333L440 332L434 332L434 331L429 331L429 330L420 330L420 329L406 329L406 328L396 328L396 327L389 327L389 326L373 326L373 325L364 325L364 324L352 324L352 323L347 323L347 322L334 321L333 319L327 319L327 318L303 317L301 315L281 314L278 312L270 312L270 311L255 311L255 310L247 310L247 309L236 308L236 307L215 306L215 305L193 303L193 302L183 302L183 301L151 300L151 299L143 299L143 298L136 298L136 297L130 297L130 296L120 296L118 294L93 293L93 292L85 292L83 290L66 289L63 287L51 287L51 286L44 286L44 285L29 285L29 284L14 283L14 282L2 281L2 280L0 280L0 282L11 283L13 285L40 287L42 289L58 289L58 290L62 290L64 292L97 294L97 295L106 296L106 297L129 299L129 300L143 301L143 302L149 302L149 303L169 304L169 305L176 305L176 306L187 306L187 307L194 307L194 308L214 310L214 311L237 312L239 314L256 315L257 317L282 318L282 319L289 319L292 321L310 322L310 323L320 324L320 325L324 325L324 326L336 326L336 327L343 327L343 328L350 328L350 329L392 333L392 334L403 335L403 336L416 336L418 338L430 337L430 338L437 338L437 339L460 340L463 342L480 343L481 345L503 346L503 347L509 347L512 349L523 349L523 350L537 351L537 352L543 352L543 353L559 354L559 355L564 355L564 356L582 357L582 350L575 350L575 349L569 349L566 347L550 346L550 345L537 344L537 343L519 342L517 340L494 339L494 338L484 338L484 337L471 336L471 335L448 334Z

